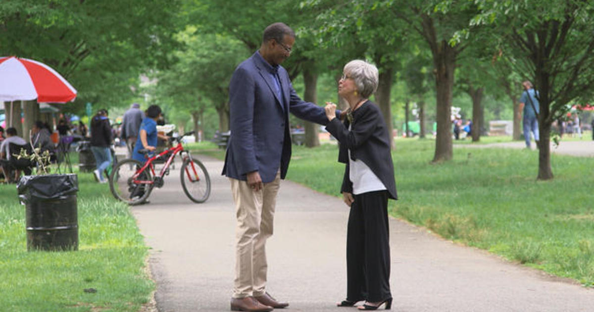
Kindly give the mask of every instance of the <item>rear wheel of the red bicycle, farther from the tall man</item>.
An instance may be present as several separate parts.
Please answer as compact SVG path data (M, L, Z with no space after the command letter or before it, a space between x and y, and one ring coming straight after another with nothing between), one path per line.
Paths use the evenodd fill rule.
M113 197L131 205L142 203L149 197L153 190L153 184L147 184L153 181L149 167L144 169L134 181L132 180L141 167L141 163L134 159L118 162L109 176L109 188Z

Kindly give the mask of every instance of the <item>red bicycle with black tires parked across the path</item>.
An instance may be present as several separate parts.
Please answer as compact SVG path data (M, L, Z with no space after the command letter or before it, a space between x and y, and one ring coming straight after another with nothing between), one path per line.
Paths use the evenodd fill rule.
M204 203L210 196L210 177L200 160L192 157L188 150L185 150L181 140L186 135L193 134L194 131L185 133L181 137L174 138L177 145L149 157L149 150L140 150L148 158L144 163L134 159L124 159L113 167L109 176L109 188L113 196L128 204L140 204L146 201L153 188L163 187L165 180L163 177L169 175L169 166L173 162L175 155L181 157L182 166L179 172L179 178L182 182L182 188L188 198L196 203ZM158 175L155 174L154 160L167 159L165 165L161 168Z

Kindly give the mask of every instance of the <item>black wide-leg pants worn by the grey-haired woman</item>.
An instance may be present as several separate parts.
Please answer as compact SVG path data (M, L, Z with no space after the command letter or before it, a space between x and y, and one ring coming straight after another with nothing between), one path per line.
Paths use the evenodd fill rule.
M346 300L391 298L388 192L355 195L346 235Z

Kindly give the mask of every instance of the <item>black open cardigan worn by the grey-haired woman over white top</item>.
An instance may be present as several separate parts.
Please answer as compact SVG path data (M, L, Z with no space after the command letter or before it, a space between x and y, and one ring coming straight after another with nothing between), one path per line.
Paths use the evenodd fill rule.
M349 178L349 153L353 160L359 159L371 169L386 187L390 198L397 199L394 164L390 150L390 137L380 109L368 100L353 112L353 124L332 119L326 130L339 141L338 161L346 163L341 192L353 193Z

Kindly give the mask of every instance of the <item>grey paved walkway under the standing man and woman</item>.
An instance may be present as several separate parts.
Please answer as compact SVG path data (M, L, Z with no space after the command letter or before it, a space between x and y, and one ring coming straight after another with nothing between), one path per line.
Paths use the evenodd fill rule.
M178 169L150 204L132 211L146 237L160 312L229 311L233 286L235 212L223 163L205 159L213 188L194 204ZM178 167L179 168L179 167ZM289 168L290 170L290 168ZM268 241L267 290L290 302L286 311L355 311L338 308L346 292L348 210L337 197L290 181L281 184ZM592 311L594 289L435 237L390 219L392 310Z

